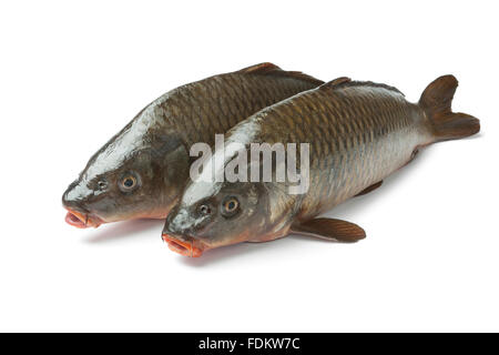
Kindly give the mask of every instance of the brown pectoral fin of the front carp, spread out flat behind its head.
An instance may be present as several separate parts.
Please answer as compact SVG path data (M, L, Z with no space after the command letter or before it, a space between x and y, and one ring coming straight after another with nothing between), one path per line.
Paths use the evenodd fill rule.
M366 232L357 224L335 219L307 221L293 225L291 232L344 243L354 243L366 237Z

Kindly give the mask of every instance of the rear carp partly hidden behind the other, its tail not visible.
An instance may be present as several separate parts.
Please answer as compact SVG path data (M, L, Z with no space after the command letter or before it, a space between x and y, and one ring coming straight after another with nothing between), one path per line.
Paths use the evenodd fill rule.
M143 109L88 162L62 196L77 227L164 219L184 186L190 146L213 143L258 110L316 88L320 80L272 63L176 88Z

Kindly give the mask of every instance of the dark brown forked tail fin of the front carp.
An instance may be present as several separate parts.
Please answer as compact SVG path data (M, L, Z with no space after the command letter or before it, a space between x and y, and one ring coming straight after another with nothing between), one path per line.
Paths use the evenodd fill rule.
M478 119L451 111L457 87L458 81L454 75L444 75L432 81L419 99L419 106L428 115L436 142L458 140L480 131Z

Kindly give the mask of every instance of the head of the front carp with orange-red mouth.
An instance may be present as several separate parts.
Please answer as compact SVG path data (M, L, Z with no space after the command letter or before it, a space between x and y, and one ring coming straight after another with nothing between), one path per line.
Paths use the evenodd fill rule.
M163 241L174 252L197 257L220 246L283 236L293 204L268 189L266 183L191 182L166 219Z

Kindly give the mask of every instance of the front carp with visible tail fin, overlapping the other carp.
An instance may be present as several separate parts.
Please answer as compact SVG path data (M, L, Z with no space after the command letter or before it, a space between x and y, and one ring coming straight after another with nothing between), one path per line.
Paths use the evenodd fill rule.
M422 146L477 133L476 118L450 109L457 85L452 75L438 78L418 103L410 103L393 87L339 78L259 111L226 133L224 154L215 150L206 166L215 174L224 170L240 154L231 149L234 142L246 148L309 143L308 166L296 159L297 171L308 170L308 190L291 194L289 179L195 179L167 216L163 240L172 251L200 256L210 248L291 233L337 242L364 239L354 223L317 216L380 186ZM216 156L224 156L223 163Z

